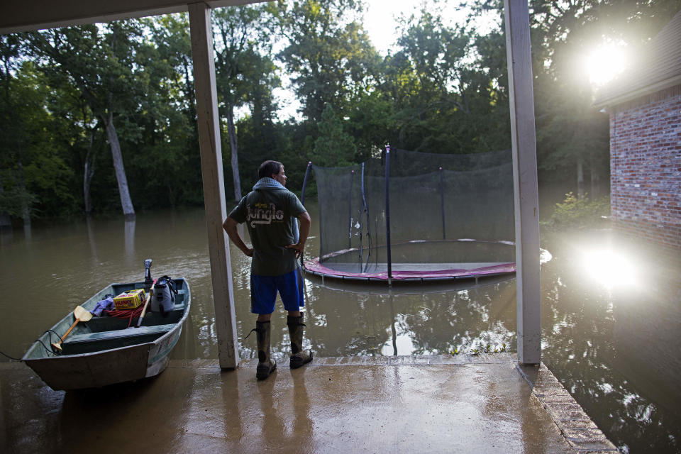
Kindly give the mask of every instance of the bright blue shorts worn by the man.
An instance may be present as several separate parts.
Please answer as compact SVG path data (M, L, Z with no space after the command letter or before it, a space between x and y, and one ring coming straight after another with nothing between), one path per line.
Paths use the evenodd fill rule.
M250 275L250 311L252 314L272 314L275 311L277 291L287 311L299 311L305 306L303 277L300 270L285 275Z

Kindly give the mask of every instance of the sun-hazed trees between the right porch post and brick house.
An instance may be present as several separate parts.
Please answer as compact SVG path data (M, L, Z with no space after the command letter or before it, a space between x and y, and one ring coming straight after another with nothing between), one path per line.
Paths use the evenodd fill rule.
M502 1L477 5L497 9L503 30ZM679 9L678 0L530 2L540 179L570 175L581 196L588 171L592 195L602 192L599 183L609 172L608 118L593 106L594 87L582 59L607 42L638 50Z

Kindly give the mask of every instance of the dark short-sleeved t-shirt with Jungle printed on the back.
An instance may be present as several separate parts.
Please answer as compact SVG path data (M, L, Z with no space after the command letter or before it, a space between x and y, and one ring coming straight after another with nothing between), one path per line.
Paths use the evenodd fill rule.
M297 268L296 251L286 246L296 243L293 223L305 211L296 194L283 188L255 189L232 210L229 217L248 226L254 275L279 276Z

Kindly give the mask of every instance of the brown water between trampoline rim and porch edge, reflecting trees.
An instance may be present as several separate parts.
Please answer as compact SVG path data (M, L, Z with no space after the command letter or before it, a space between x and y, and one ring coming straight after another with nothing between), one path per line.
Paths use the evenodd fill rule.
M307 332L319 356L423 355L514 343L515 284L508 277L427 289L306 283ZM287 345L277 349L286 352Z

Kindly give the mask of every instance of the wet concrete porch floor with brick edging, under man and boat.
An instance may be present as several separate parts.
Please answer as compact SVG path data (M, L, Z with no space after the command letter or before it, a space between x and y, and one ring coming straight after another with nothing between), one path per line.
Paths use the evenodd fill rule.
M55 392L0 365L4 453L615 452L546 367L514 355L316 358L268 380L175 360L159 377Z

